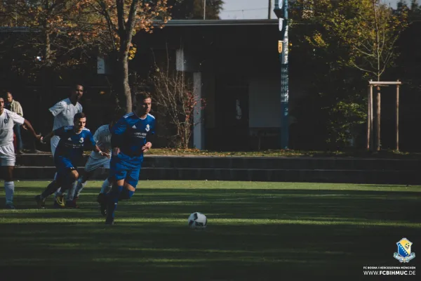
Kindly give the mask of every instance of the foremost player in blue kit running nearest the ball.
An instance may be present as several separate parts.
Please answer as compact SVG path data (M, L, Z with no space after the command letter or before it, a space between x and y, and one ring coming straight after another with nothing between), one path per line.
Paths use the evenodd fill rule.
M136 96L135 113L124 115L111 129L109 178L113 181L113 187L105 200L100 202L102 214L107 215L106 224L114 224L114 212L119 200L128 200L133 196L138 185L143 152L152 148L155 117L149 114L151 104L151 96Z

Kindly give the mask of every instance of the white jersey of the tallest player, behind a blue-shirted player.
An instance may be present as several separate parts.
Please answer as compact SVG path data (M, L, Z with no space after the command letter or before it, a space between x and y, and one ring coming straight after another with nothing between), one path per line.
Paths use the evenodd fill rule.
M56 130L62 126L73 126L73 117L76 113L82 112L82 105L80 103L73 105L70 99L66 98L53 105L49 110L54 116L53 130Z

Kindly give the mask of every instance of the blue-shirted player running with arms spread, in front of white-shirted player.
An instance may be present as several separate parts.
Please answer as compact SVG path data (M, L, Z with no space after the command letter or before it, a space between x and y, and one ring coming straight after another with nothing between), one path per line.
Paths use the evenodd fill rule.
M55 129L44 136L44 138L41 138L41 142L46 143L46 140L53 136L60 137L54 153L57 177L48 185L44 192L35 197L36 204L41 209L45 207L46 197L53 194L60 186L64 191L72 189L76 185L79 178L76 164L81 159L84 150L94 150L102 156L107 156L107 153L102 152L96 145L91 131L85 128L86 115L83 112L74 115L73 124L74 126L62 126L59 129ZM66 207L76 207L76 202L67 201Z

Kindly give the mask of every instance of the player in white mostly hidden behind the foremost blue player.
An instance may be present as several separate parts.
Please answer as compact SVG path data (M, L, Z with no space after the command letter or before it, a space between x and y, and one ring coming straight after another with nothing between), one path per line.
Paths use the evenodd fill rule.
M109 125L100 126L93 135L93 139L96 141L96 144L101 149L102 152L109 154L111 151L111 132L109 131L112 126L125 114L123 110L119 110L114 114L112 122ZM81 190L85 187L87 181L97 169L104 168L109 169L109 159L110 157L105 157L100 155L98 152L91 152L91 155L88 158L85 166L85 172L77 182L76 190L74 192L67 193L67 200L74 200L74 198L79 198ZM108 181L108 178L105 179L102 183L100 195L104 195L112 188L112 182Z

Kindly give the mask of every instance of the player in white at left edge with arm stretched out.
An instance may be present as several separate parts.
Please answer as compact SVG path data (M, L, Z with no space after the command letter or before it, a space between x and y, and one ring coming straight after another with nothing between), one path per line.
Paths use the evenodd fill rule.
M25 124L27 129L36 139L41 135L36 135L34 128L27 119L20 117L15 112L4 108L4 100L0 97L0 164L1 172L4 178L4 190L6 192L6 209L15 209L13 205L13 194L15 192L15 183L13 182L13 169L15 168L15 148L13 146L13 126L15 124Z

